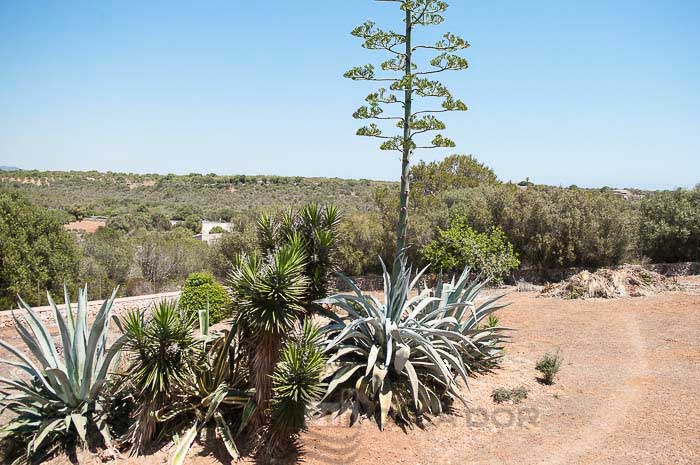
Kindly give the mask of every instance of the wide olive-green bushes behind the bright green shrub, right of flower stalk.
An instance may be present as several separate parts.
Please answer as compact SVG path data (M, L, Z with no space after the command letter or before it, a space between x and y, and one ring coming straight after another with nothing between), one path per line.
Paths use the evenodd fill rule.
M503 184L442 198L444 216L464 218L477 231L503 229L526 266L599 267L634 253L635 205L609 192Z

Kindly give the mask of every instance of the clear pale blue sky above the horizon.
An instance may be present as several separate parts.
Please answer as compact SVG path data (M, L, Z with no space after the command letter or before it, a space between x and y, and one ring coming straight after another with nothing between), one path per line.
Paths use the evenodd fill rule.
M452 0L470 107L450 151L504 180L671 188L700 182L698 0ZM354 135L383 55L349 31L397 24L370 0L0 0L0 165L397 179ZM421 34L418 34L420 40ZM432 32L426 36L432 41Z

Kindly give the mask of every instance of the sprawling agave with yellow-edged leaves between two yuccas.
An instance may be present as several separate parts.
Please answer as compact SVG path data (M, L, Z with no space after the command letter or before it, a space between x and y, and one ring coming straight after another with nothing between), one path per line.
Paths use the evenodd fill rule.
M192 377L179 386L174 402L157 415L160 421L178 417L192 421L182 439L176 437L173 465L184 463L199 432L210 427L219 433L231 459L238 460L240 454L235 442L236 436L245 429L255 411L236 326L220 333L211 333L208 308L199 311L199 321L201 358ZM235 433L229 426L232 423L237 424Z

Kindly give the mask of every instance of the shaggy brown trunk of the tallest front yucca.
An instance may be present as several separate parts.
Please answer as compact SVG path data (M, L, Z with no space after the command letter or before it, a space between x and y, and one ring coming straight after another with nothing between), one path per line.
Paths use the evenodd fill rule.
M255 384L255 403L257 409L251 418L251 424L257 428L266 424L269 417L269 404L272 399L272 373L279 360L282 345L279 334L267 333L255 341L252 347L250 369Z

